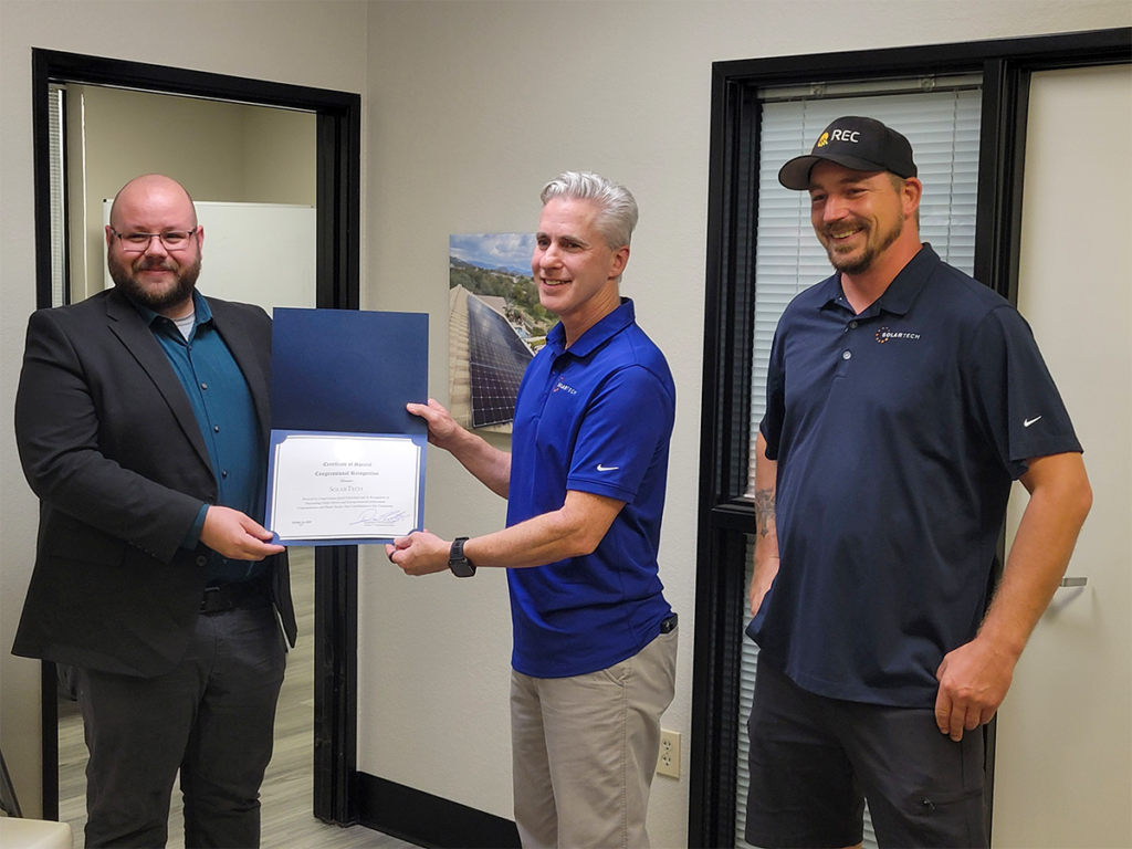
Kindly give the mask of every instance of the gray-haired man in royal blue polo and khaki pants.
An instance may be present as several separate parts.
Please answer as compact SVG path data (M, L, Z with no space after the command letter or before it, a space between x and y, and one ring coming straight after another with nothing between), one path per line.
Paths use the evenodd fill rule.
M660 715L672 700L676 615L657 551L675 387L618 294L633 196L588 172L542 190L532 272L560 323L528 367L512 452L410 404L429 440L507 498L507 529L388 547L410 575L508 569L515 820L526 849L648 849Z

